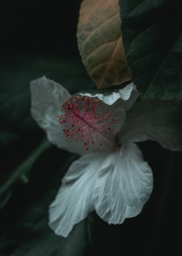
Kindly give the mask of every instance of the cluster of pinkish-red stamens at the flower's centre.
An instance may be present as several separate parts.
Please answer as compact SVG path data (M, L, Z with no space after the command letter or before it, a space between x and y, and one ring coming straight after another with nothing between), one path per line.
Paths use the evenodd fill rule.
M92 145L93 150L103 146L103 141L110 144L105 137L105 131L113 131L110 125L114 124L114 118L109 118L110 113L103 113L99 109L101 101L88 96L73 96L61 104L64 114L59 115L59 123L64 135L75 142L83 141L83 146L88 150Z

